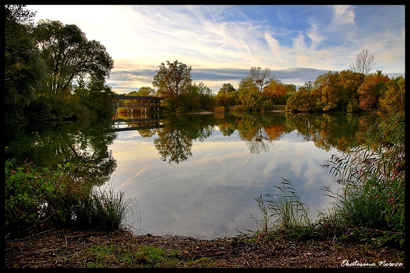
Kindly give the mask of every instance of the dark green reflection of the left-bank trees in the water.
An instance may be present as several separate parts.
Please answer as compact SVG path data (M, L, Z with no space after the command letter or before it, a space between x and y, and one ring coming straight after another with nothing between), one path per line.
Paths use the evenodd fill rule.
M95 185L104 185L116 168L116 160L108 149L116 137L108 132L110 120L60 121L36 124L26 132L15 132L6 140L6 159L22 163L25 159L35 167L56 170L60 163L81 163L77 177Z

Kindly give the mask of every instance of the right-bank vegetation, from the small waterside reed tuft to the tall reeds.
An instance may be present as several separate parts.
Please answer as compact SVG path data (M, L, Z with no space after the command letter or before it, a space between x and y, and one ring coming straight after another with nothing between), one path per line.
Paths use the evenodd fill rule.
M404 249L405 243L405 120L402 115L380 119L361 143L322 165L342 187L323 194L334 198L327 211L311 220L309 207L291 181L283 180L281 195L260 195L256 200L263 218L262 232L296 237L352 239Z

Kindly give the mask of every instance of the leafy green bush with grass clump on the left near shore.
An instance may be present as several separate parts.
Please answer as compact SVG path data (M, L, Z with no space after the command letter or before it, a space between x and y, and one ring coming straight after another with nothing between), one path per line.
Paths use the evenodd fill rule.
M85 165L60 164L56 171L6 161L6 237L29 236L54 227L116 230L135 216L132 200L112 188L95 188L78 177ZM129 215L131 212L131 216ZM131 225L130 225L131 226Z

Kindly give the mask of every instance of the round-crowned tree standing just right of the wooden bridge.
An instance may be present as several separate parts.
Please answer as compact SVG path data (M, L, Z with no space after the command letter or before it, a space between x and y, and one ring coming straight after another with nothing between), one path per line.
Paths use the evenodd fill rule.
M157 70L152 85L158 88L158 94L175 99L180 93L188 91L191 83L191 66L175 60L167 60L167 66L162 62Z

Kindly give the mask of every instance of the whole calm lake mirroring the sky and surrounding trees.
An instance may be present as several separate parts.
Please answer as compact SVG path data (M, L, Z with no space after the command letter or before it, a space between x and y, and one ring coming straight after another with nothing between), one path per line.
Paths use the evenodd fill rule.
M68 161L136 201L139 234L213 239L258 230L255 200L283 179L317 217L339 188L321 166L374 123L371 116L284 112L121 115L35 124L6 140L6 158L55 167Z

